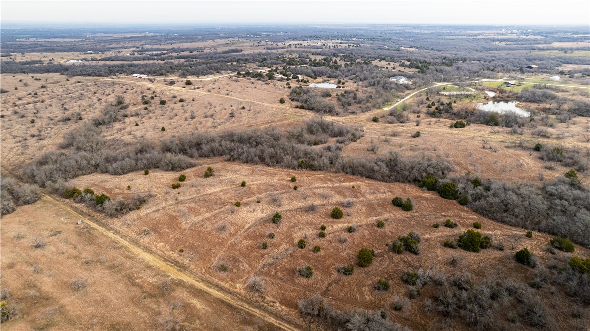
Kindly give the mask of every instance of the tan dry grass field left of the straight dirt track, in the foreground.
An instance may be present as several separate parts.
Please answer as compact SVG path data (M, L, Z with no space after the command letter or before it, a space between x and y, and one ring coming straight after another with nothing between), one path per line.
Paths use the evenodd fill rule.
M19 318L3 330L163 330L174 321L201 330L266 325L78 219L48 198L2 217L2 291L20 307ZM35 240L43 247L34 247Z

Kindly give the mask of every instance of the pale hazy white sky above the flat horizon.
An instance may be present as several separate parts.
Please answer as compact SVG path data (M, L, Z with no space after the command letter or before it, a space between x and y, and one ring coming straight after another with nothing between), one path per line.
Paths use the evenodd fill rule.
M2 24L387 23L590 26L590 1L0 1ZM590 30L590 28L589 28Z

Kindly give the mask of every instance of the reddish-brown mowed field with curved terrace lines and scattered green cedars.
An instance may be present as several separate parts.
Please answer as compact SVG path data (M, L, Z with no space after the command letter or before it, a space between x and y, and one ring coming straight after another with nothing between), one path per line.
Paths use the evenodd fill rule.
M195 168L178 173L154 170L149 175L94 174L71 183L81 189L106 192L112 198L152 192L155 197L141 209L104 221L191 273L249 297L268 310L291 316L298 314L297 300L317 293L339 309L382 309L392 320L412 329L429 329L438 322L431 322L420 309L428 296L412 301L407 311L392 309L392 296L404 296L407 291L401 280L405 271L432 268L449 275L470 271L476 283L499 273L526 280L535 270L515 263L514 251L527 247L542 263L553 257L542 253L549 235L535 232L533 238L525 238L525 230L490 221L455 201L413 185L218 159L199 162ZM204 178L209 166L215 170L215 176ZM178 182L181 173L186 175L186 181L181 188L172 189L171 184ZM296 176L296 182L291 181L292 176ZM242 181L245 186L241 186ZM414 210L405 212L394 207L394 196L410 198ZM347 199L349 202L345 203ZM240 207L235 202L240 202ZM343 209L343 218L330 218L333 207ZM282 216L278 225L271 221L276 212ZM442 224L445 219L452 219L459 226L432 228L432 224ZM378 221L385 226L377 227ZM503 242L507 249L468 253L442 247L445 240L456 240L476 221L481 222L483 235L489 235L493 242ZM326 225L324 238L319 237L322 224ZM351 225L355 232L348 232ZM388 242L411 231L422 237L419 255L398 255L386 247ZM297 246L300 239L306 240L303 249ZM267 249L263 249L264 241ZM319 253L313 252L316 245L321 248ZM337 266L356 263L356 254L363 247L375 250L371 266L356 267L352 276L339 274ZM576 247L576 254L587 256L590 251ZM451 255L461 261L460 265L450 265ZM297 270L303 266L313 267L312 278L298 276ZM264 280L262 295L251 294L245 286L251 276ZM373 290L379 278L391 281L391 290ZM428 286L424 289L427 293L433 290ZM562 295L558 293L540 295Z

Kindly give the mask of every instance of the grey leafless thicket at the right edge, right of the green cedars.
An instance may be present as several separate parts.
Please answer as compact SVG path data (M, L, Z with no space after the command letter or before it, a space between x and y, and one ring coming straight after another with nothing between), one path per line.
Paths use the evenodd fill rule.
M452 179L467 207L478 214L514 227L569 237L590 247L590 190L572 185L568 178L533 183L489 179L474 182L470 176Z

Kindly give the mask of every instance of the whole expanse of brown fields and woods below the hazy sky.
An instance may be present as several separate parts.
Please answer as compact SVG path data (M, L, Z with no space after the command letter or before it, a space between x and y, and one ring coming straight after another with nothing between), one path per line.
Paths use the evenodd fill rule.
M461 29L2 31L2 329L588 329L585 32Z

